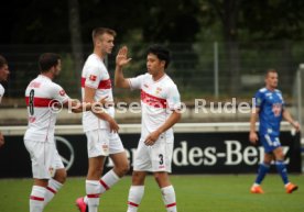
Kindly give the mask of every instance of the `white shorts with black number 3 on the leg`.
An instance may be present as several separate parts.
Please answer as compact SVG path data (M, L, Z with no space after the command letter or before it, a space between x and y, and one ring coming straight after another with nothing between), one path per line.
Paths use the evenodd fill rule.
M146 146L140 140L133 160L133 170L171 172L173 140L160 137L154 145Z

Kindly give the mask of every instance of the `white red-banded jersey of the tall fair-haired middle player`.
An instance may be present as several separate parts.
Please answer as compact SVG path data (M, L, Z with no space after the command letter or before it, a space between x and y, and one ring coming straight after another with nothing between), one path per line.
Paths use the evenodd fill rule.
M101 98L108 97L107 101L113 101L112 85L109 72L102 62L102 59L96 54L91 54L83 68L82 74L82 94L85 96L85 87L96 89L95 101L99 101ZM105 109L105 111L115 116L113 107ZM108 129L109 124L97 118L93 112L87 111L83 113L83 127L84 131L94 131L97 129Z

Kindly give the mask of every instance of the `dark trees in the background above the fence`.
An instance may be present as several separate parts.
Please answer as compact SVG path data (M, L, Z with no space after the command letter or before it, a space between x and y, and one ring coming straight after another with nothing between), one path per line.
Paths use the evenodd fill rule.
M303 40L303 0L11 0L1 5L0 44L69 43L79 70L96 26L115 29L118 44L218 41L235 94L240 43Z

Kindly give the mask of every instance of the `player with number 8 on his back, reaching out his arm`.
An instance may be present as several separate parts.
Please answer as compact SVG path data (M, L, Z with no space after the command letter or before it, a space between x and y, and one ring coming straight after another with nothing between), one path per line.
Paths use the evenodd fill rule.
M24 145L31 156L34 178L30 196L30 212L42 212L66 179L66 170L54 141L57 112L53 109L63 105L70 108L72 112L83 112L83 110L91 110L94 105L82 104L79 101L69 99L64 89L52 81L61 71L58 55L42 54L39 66L41 74L29 83L25 90L29 124L24 134Z

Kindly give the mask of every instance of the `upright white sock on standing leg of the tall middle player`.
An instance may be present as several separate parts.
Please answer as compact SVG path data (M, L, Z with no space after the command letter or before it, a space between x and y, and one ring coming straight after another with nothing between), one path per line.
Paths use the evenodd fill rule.
M98 180L86 180L87 205L89 212L98 211L100 187Z

